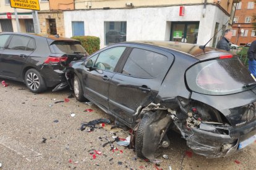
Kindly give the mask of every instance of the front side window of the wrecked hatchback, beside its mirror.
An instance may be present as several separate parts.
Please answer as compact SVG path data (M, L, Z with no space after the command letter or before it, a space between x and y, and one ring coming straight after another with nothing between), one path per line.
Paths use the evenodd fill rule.
M114 71L118 60L126 47L113 47L100 53L95 67L101 70Z

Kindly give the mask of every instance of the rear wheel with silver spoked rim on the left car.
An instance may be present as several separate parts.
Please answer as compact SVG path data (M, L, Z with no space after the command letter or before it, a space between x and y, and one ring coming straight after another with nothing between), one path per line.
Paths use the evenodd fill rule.
M25 73L24 81L28 89L33 93L40 93L47 89L45 80L35 68L31 68Z

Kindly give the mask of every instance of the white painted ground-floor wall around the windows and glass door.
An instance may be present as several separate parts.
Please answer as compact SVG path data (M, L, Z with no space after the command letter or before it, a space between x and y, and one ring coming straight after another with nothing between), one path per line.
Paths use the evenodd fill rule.
M169 22L199 21L197 44L205 44L213 36L215 22L223 25L228 16L218 7L207 6L202 17L203 6L185 6L185 16L179 16L179 6L148 7L138 9L74 10L64 11L64 25L67 37L72 36L72 21L85 23L85 35L98 36L101 48L105 47L104 22L126 21L127 41L169 40ZM211 45L208 44L208 46Z

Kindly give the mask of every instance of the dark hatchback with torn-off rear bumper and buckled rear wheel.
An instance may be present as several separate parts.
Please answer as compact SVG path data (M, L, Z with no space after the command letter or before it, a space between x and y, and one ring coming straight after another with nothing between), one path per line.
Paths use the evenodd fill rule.
M77 100L87 98L132 128L131 147L155 159L180 132L195 153L231 155L256 139L256 83L236 55L195 44L122 42L72 62Z

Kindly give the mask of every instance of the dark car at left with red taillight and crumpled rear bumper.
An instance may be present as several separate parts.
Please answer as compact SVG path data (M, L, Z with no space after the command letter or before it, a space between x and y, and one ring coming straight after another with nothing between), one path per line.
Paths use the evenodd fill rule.
M79 41L28 33L0 34L0 77L23 81L34 93L67 87L66 66L86 53Z

